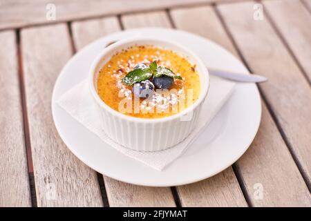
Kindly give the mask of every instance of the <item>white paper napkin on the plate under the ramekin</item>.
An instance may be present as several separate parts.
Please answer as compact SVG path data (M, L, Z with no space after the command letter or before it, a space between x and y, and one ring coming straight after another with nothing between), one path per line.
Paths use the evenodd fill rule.
M232 81L211 76L209 93L202 106L198 124L194 131L180 144L168 148L167 150L156 152L132 151L129 148L125 148L124 146L113 142L113 140L106 136L98 121L99 117L97 117L95 104L86 80L64 93L57 103L80 124L88 128L89 131L95 133L95 135L100 137L102 141L117 149L117 151L151 166L153 169L162 171L165 166L168 166L173 160L176 160L189 146L191 146L191 143L195 138L200 132L202 132L211 119L213 119L223 104L225 104L229 95L232 94L234 85L235 84Z

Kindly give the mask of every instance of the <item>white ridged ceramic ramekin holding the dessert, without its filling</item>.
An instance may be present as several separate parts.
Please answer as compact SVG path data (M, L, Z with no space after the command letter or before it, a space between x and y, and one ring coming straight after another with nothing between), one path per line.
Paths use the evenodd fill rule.
M169 117L144 119L119 113L100 99L100 96L97 94L97 77L100 69L116 52L135 45L152 45L173 50L178 55L187 57L191 64L196 64L196 70L200 75L201 90L198 99L191 107ZM98 55L91 66L89 85L91 96L97 104L97 110L100 115L98 120L102 124L102 129L111 140L135 151L162 151L182 142L194 130L198 115L200 114L200 108L207 96L209 73L201 59L183 46L164 40L164 37L163 39L134 37L117 41Z

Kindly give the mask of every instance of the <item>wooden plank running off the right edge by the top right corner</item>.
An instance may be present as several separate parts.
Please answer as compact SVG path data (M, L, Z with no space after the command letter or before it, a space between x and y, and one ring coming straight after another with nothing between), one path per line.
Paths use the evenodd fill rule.
M301 1L263 1L266 12L311 81L311 14Z

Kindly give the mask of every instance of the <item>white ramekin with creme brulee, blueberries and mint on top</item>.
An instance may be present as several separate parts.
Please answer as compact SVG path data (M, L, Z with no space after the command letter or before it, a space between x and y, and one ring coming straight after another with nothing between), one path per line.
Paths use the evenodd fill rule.
M209 73L184 46L135 37L104 49L91 67L89 83L111 140L135 151L161 151L193 131Z

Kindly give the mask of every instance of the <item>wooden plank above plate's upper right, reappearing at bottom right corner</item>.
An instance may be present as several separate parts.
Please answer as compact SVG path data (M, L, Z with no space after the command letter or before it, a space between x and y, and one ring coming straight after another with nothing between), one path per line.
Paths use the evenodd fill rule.
M196 25L187 22L194 15ZM177 28L191 30L216 41L234 55L237 55L216 12L211 7L172 10L171 17ZM202 31L202 27L205 32ZM308 206L308 189L283 142L272 117L263 104L261 126L252 146L236 162L238 173L247 190L247 198L254 206ZM256 200L254 184L264 187L262 200ZM217 183L215 183L217 184ZM186 194L180 191L180 195ZM190 198L191 204L194 198Z

